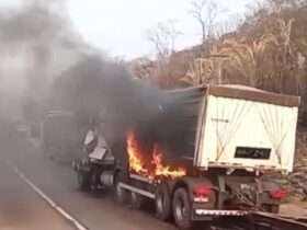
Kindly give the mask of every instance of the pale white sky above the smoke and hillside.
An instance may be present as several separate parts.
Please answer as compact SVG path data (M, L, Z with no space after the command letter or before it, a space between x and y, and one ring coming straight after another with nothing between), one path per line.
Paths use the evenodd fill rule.
M0 0L0 5L15 5L26 0ZM136 58L155 54L146 31L159 22L174 20L182 33L177 49L196 45L201 28L189 14L192 0L67 0L68 15L75 30L87 43L110 56ZM243 14L252 0L216 0L227 9L220 21L231 23Z

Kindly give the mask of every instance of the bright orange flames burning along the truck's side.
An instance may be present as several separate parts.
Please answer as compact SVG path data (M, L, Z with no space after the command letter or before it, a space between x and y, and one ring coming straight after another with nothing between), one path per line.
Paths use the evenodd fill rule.
M151 154L152 160L150 163L154 170L150 171L149 169L147 169L134 133L128 134L127 152L129 158L130 171L139 175L147 176L149 179L157 179L159 176L180 177L186 175L186 171L182 168L171 169L171 166L163 164L163 153L159 150L158 145L155 145Z

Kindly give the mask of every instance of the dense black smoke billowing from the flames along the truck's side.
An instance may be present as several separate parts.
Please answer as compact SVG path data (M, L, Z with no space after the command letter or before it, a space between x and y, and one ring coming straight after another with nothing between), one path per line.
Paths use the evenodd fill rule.
M182 154L194 153L183 146L193 142L190 137L194 138L195 133L190 128L195 128L197 117L186 117L185 105L180 102L185 99L189 103L197 93L167 93L134 79L123 64L99 56L89 57L64 72L53 92L54 106L73 111L79 124L87 126L92 117L99 119L100 131L123 165L127 161L129 131L135 131L147 153L152 152L157 142L173 162Z

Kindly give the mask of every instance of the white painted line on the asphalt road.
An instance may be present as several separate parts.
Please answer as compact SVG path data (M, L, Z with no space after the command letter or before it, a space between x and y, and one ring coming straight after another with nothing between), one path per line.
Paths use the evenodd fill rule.
M57 205L52 198L49 198L42 189L39 189L32 181L30 181L16 166L9 164L13 171L19 175L19 177L24 181L36 194L38 194L52 208L59 212L65 219L70 221L78 230L89 230L77 219L71 217L66 210L64 210L59 205Z

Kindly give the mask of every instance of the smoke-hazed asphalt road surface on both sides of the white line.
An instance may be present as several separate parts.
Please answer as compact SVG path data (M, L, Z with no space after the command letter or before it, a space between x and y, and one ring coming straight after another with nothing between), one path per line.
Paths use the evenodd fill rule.
M0 229L73 229L62 215L39 197L14 171L16 168L60 209L91 230L174 230L150 210L132 210L110 195L92 196L77 189L69 165L50 161L25 138L0 137Z

